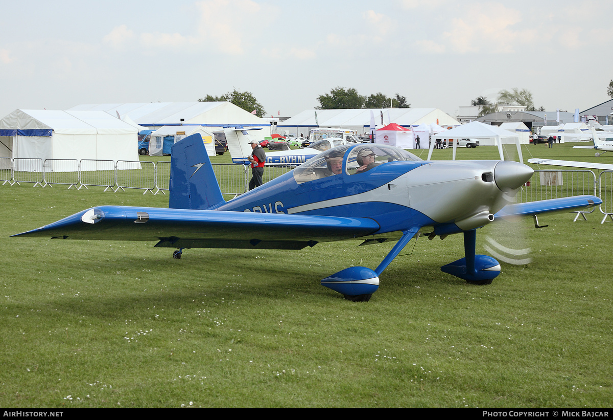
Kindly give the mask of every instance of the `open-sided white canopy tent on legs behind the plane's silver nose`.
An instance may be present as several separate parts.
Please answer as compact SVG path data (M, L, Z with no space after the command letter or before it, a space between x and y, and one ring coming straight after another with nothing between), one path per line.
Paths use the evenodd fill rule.
M519 137L516 133L506 131L497 125L487 125L482 122L473 121L464 125L457 126L451 130L441 131L438 134L432 136L432 144L430 145L430 151L428 152L428 160L432 157L432 150L434 150L435 139L479 139L479 143L482 140L489 142L493 146L498 146L498 152L500 153L500 160L504 160L502 152L502 139L513 138L514 143L517 144L517 154L519 154L519 161L523 162L522 149L519 144ZM506 142L506 141L505 141ZM457 142L454 142L453 160L455 160L455 150L457 148Z

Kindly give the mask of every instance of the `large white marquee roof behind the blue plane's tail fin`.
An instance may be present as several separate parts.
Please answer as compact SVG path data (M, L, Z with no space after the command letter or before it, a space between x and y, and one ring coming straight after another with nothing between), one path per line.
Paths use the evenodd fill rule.
M230 102L153 102L133 104L82 104L69 111L104 111L115 117L128 115L141 126L268 125L264 119Z

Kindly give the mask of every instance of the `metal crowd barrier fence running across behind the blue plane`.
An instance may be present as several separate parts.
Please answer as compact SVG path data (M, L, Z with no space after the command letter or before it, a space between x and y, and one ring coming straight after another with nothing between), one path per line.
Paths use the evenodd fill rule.
M249 166L234 163L213 163L213 171L224 195L240 195L248 190L251 171ZM271 181L297 165L267 164L264 182ZM170 184L170 162L112 161L75 159L0 158L0 183L31 183L36 187L68 185L69 189L104 187L104 190L137 189L156 195L166 193ZM562 198L577 195L596 195L603 203L600 212L613 222L613 171L602 171L598 176L590 170L536 170L517 193L517 203ZM575 220L590 212L577 212Z

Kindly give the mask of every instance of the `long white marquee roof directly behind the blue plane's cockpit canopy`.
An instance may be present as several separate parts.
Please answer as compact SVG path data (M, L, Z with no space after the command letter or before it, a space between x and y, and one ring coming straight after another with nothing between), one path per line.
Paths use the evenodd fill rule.
M278 124L278 127L368 127L370 113L375 123L381 124L381 114L386 122L412 126L421 123L459 125L460 123L438 108L384 108L384 109L307 109ZM317 113L317 122L315 114Z

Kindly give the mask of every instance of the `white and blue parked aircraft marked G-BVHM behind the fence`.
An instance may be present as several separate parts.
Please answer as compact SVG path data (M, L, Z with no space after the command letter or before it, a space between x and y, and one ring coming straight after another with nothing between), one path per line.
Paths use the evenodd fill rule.
M256 141L248 133L248 130L261 130L261 128L245 129L242 127L225 128L226 140L228 144L228 151L232 157L232 162L242 163L243 165L249 165L249 161L246 159L251 152L251 146L249 142ZM281 150L278 152L266 152L266 163L305 163L316 155L319 155L325 150L332 147L342 146L344 144L350 144L348 141L341 138L322 139L314 142L304 149L294 150Z

